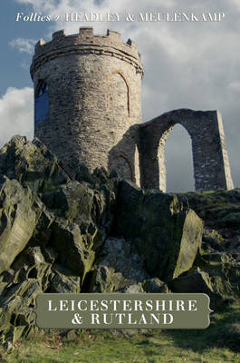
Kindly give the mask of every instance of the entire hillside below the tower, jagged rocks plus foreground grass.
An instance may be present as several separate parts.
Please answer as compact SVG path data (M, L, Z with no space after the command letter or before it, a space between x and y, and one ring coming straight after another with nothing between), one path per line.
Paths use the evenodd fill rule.
M21 136L0 172L0 361L240 362L228 305L240 299L240 189L145 191L81 163L71 180ZM38 294L80 291L201 292L218 313L196 331L36 332Z

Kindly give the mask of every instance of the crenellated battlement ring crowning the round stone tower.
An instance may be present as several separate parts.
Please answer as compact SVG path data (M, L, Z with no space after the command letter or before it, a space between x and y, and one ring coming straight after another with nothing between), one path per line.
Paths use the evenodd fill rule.
M64 30L53 33L52 41L45 43L43 39L35 44L31 75L39 65L49 58L61 54L100 54L120 58L135 66L143 74L138 47L130 39L123 43L120 33L108 29L106 35L93 34L92 27L81 27L79 34L66 35Z

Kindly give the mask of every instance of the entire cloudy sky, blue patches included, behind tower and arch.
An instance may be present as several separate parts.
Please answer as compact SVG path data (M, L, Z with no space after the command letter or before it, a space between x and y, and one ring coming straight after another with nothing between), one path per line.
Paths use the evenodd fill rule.
M2 4L4 3L4 4ZM168 3L168 5L166 5ZM117 13L120 21L66 22L70 13ZM199 21L141 22L139 13L194 14ZM18 15L21 13L21 15ZM27 16L51 15L50 22L30 22ZM126 21L126 15L134 16ZM201 21L201 15L224 14L221 21ZM24 18L24 16L26 16ZM178 17L178 18L179 18ZM18 21L16 21L18 18ZM162 17L161 17L162 18ZM133 19L133 18L132 18ZM207 18L209 19L209 18ZM20 133L33 138L33 84L29 75L34 44L51 40L55 30L78 33L93 26L119 31L123 41L138 44L145 75L142 82L143 121L178 108L219 110L235 187L240 187L240 3L239 0L8 0L1 2L0 145ZM191 142L176 125L166 143L168 191L194 189Z

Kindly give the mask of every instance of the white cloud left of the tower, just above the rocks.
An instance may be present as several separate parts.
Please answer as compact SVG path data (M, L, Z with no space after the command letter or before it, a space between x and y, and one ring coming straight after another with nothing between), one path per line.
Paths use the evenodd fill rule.
M0 146L15 134L29 139L34 134L34 90L30 87L9 87L0 99Z

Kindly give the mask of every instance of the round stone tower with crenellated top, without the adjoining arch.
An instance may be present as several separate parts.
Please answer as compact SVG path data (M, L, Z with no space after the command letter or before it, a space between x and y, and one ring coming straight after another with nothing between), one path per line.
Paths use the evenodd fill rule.
M84 162L138 182L136 123L141 123L143 68L136 44L108 30L53 34L35 45L34 136L66 166Z

